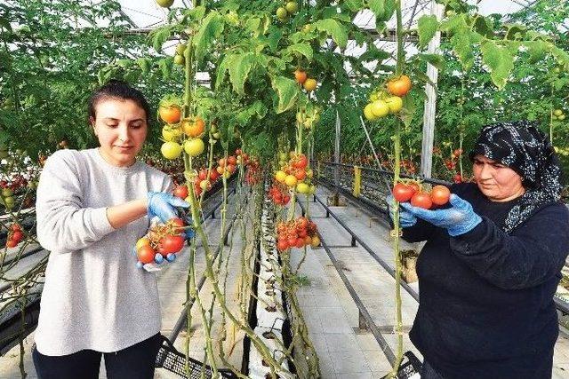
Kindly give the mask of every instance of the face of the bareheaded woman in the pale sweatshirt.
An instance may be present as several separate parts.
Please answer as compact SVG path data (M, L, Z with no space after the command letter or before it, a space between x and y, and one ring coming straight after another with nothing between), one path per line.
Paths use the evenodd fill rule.
M143 108L132 100L104 99L95 106L92 124L105 161L117 167L136 162L148 133Z

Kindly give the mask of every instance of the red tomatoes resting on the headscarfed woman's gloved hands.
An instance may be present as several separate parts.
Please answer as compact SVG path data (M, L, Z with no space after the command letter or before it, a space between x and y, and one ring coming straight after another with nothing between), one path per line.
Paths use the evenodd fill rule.
M421 188L417 182L397 183L392 190L393 197L399 202L411 201L413 207L430 209L433 205L445 205L451 191L445 186L434 186L430 193Z

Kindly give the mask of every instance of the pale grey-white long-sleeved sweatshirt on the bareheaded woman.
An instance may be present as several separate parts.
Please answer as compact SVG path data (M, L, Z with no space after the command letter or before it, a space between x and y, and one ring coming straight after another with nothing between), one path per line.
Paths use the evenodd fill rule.
M60 150L37 187L37 239L51 254L36 329L37 350L60 356L119 351L161 328L156 276L132 253L148 217L120 229L107 207L170 191L171 179L143 162L110 165L98 149Z

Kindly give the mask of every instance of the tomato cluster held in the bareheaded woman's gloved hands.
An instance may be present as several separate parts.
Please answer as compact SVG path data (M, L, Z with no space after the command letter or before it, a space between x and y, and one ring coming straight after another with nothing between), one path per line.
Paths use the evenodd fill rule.
M178 218L171 218L166 224L150 228L145 237L136 242L137 265L142 267L149 263L160 265L164 259L173 262L186 241L184 222Z

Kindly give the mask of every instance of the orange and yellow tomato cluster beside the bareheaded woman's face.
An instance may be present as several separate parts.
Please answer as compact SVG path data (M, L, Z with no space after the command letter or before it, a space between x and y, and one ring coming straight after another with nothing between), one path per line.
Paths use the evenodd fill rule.
M201 117L191 116L181 119L180 107L172 103L163 103L158 109L158 114L162 121L166 122L162 128L164 144L160 147L164 158L177 159L182 150L191 157L204 153L205 144L202 138L205 122Z

